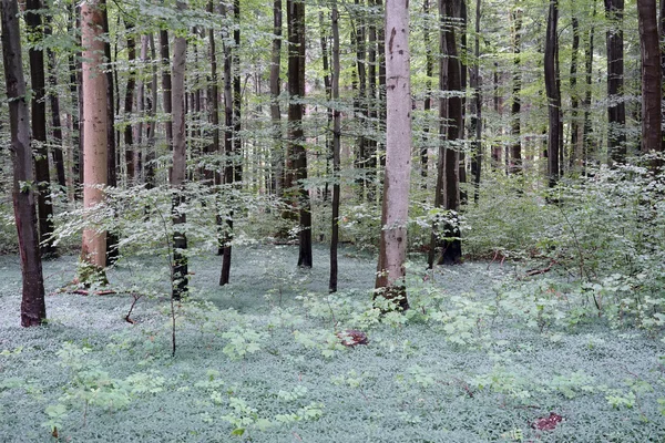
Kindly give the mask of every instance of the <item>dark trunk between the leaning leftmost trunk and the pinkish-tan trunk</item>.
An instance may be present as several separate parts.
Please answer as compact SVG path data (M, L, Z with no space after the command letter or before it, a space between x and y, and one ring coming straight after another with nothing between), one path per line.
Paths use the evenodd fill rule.
M51 176L49 173L49 151L47 148L47 102L44 52L41 0L25 1L25 24L30 40L37 45L28 51L30 59L30 83L32 86L31 123L34 156L34 178L37 181L37 213L39 217L39 240L44 257L55 255L53 245L53 206L51 204Z

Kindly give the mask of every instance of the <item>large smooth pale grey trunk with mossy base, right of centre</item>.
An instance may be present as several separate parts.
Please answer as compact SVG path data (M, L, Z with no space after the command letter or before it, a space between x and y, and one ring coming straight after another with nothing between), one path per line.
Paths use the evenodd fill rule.
M408 309L405 282L411 173L411 82L408 0L386 2L386 175L375 299Z

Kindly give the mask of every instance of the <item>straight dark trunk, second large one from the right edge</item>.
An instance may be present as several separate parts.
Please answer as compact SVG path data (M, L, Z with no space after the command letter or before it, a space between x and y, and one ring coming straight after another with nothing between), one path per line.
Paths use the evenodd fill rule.
M623 163L626 156L626 107L623 97L624 0L605 0L605 14L611 28L607 30L607 151L613 162Z

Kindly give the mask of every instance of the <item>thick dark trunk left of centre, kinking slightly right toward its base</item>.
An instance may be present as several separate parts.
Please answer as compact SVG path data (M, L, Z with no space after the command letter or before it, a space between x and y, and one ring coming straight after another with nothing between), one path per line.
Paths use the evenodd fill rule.
M307 155L303 131L305 105L299 101L305 96L305 3L287 0L288 24L288 161L291 163L289 183L295 187L296 205L299 210L299 254L298 266L310 268L311 260L311 209L309 194L304 182L307 179ZM296 101L296 100L298 101Z

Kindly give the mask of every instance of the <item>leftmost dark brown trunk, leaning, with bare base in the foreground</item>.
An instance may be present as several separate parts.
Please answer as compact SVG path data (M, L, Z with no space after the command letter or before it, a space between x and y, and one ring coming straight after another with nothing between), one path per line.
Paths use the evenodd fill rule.
M34 192L30 186L21 185L21 183L34 181L32 150L30 148L30 115L25 103L19 8L16 0L2 0L0 7L2 61L7 99L9 100L10 152L13 163L12 197L23 280L21 326L31 327L45 321L47 307L34 210Z

